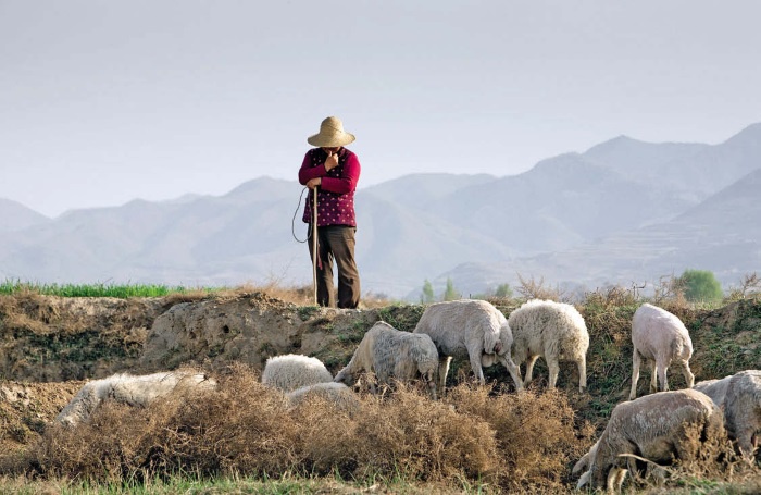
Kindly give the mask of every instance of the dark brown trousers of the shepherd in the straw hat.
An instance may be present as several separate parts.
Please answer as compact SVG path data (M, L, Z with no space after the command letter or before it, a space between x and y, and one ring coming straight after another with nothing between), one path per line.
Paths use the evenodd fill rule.
M354 233L357 227L347 225L327 225L317 227L317 304L320 306L336 306L336 295L333 290L333 261L338 269L338 307L357 308L360 304L360 273L354 260ZM312 230L309 230L309 256L314 262L312 252ZM322 268L320 264L322 263Z

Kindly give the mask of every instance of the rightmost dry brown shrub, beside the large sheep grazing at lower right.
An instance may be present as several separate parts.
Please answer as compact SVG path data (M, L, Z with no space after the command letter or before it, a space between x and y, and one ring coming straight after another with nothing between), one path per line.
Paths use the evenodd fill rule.
M573 429L574 412L564 394L492 395L489 387L461 384L447 401L463 414L485 420L496 433L503 462L500 485L519 490L557 490L567 475L567 463L578 447Z

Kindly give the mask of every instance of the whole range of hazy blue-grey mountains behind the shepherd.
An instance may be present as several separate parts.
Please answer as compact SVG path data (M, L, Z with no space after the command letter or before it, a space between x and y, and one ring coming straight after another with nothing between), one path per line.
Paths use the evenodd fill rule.
M307 246L291 234L301 191L262 177L220 197L54 220L0 200L0 279L310 284ZM514 176L408 175L357 193L362 288L416 300L425 279L440 293L451 277L467 296L520 273L594 289L686 268L736 284L761 271L760 200L761 124L720 145L621 136Z

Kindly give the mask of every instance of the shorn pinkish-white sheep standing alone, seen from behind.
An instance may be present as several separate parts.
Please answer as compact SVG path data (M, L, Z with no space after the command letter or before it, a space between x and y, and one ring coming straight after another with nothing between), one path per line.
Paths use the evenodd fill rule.
M682 363L687 388L695 383L695 375L689 370L689 358L693 357L693 341L682 320L665 309L644 304L634 312L632 319L632 391L629 400L637 396L637 381L641 360L650 360L652 374L650 376L650 393L658 389L656 380L660 381L661 392L669 389L666 369L672 362ZM656 374L658 371L658 374Z

